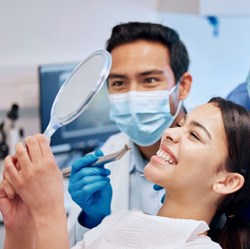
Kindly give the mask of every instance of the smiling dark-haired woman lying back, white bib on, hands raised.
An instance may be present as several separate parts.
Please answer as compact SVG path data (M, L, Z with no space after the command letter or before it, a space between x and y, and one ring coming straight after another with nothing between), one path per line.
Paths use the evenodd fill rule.
M62 176L49 142L43 135L25 142L26 148L17 145L16 157L5 159L0 186L5 249L68 249ZM250 202L249 148L249 113L211 99L165 130L144 170L167 191L157 216L136 210L112 214L73 248L249 248L249 226L241 216L241 207ZM207 236L219 214L227 217L220 245Z

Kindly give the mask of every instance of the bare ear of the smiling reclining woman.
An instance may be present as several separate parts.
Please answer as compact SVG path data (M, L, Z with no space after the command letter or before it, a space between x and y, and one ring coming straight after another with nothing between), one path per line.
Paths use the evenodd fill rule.
M231 194L243 186L245 182L244 177L235 172L223 172L213 184L213 190L218 194Z

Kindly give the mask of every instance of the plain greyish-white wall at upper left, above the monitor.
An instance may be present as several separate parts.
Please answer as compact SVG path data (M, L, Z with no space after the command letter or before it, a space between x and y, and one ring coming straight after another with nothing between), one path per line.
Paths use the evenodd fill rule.
M103 47L111 27L154 20L152 0L26 0L0 5L0 65L82 59Z

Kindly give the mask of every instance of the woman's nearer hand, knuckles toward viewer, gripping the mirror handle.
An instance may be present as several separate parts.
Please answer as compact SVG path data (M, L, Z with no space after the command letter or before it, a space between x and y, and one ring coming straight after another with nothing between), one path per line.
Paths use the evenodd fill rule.
M54 215L64 209L62 174L49 147L48 139L41 134L25 139L16 146L20 169L11 157L5 159L4 177L30 209L33 217Z

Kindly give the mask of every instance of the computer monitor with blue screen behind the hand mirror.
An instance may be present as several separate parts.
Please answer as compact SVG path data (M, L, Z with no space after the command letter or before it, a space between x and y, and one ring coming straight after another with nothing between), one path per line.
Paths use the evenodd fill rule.
M76 66L77 63L64 63L38 67L41 132L45 131L49 123L50 110L58 90ZM53 134L51 148L54 153L73 150L89 152L118 132L108 116L107 96L107 86L104 84L87 109L76 120L59 128Z

